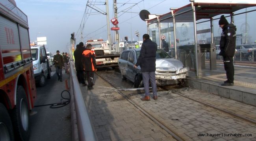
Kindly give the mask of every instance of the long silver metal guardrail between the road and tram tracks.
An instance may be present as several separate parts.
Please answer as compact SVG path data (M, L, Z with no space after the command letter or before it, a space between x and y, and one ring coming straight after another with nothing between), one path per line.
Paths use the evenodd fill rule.
M73 63L74 62L69 61L72 141L98 141L91 118L84 103Z

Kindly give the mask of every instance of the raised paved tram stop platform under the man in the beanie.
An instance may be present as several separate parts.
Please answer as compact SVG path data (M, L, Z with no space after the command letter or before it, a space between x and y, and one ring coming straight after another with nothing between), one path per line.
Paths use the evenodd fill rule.
M219 96L256 106L256 65L235 63L234 86L221 86L226 81L224 65L217 64L217 70L210 71L209 63L199 77L194 71L188 72L187 86Z

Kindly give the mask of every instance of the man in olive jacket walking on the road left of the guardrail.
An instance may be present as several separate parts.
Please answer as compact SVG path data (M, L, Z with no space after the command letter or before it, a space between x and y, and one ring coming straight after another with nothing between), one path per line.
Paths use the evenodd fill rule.
M56 54L53 57L56 74L58 76L58 80L62 82L62 67L64 66L63 56L59 54L59 51L56 51Z

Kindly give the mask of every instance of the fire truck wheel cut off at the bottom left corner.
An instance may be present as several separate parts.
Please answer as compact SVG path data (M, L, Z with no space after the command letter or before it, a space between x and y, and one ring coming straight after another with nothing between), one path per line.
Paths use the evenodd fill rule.
M11 118L2 103L0 103L0 131L0 141L14 141Z

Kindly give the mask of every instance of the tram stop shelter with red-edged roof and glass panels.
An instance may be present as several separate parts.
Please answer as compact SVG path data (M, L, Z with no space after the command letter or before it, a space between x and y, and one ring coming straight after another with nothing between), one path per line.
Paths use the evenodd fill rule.
M254 13L256 1L252 0L190 0L190 4L146 20L152 41L162 47L167 40L170 54L184 66L195 70L196 76L205 69L205 55L210 56L210 70L216 70L216 45L222 29L218 21L224 14L229 23L236 25L241 15ZM244 17L243 17L244 18ZM247 27L245 27L247 28ZM237 38L241 42L243 38Z

